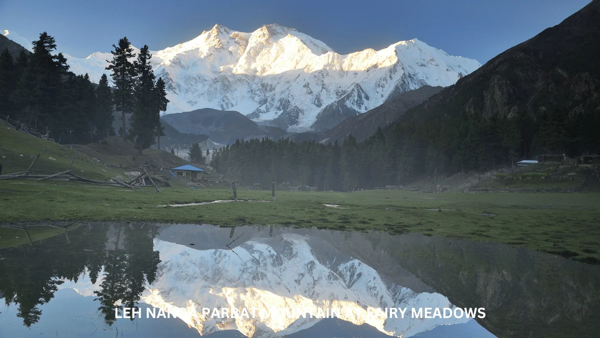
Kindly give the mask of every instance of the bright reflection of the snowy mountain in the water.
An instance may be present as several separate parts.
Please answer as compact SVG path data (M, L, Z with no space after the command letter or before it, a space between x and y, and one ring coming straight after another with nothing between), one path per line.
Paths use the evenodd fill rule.
M322 250L320 250L322 249ZM439 293L415 293L385 283L373 268L326 247L311 247L305 236L283 234L257 238L228 249L195 250L155 240L163 263L146 303L175 313L201 334L239 330L248 337L278 337L310 327L318 319L302 313L340 309L340 319L369 324L383 333L410 337L442 324L468 319L386 319L369 316L369 308L452 307ZM317 258L316 256L320 256ZM239 256L239 257L238 257ZM286 315L217 319L202 316L202 307L287 309ZM383 310L381 310L383 311Z

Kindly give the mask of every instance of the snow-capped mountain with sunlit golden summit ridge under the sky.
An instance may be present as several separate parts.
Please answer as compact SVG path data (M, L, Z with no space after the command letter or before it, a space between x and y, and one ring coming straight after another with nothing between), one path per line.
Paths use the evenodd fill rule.
M193 40L152 52L167 82L167 114L214 108L239 111L287 131L330 128L422 85L448 86L478 69L417 39L347 55L281 25L254 32L215 25ZM67 55L71 70L98 81L110 53ZM320 123L321 120L327 121Z

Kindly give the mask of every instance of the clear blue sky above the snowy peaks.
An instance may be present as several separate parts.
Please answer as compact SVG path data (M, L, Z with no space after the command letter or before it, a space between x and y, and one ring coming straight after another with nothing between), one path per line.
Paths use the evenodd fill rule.
M35 40L47 31L74 57L109 52L127 36L153 51L196 37L215 23L251 32L268 23L298 29L341 54L419 38L485 63L560 23L590 0L0 0L0 29Z

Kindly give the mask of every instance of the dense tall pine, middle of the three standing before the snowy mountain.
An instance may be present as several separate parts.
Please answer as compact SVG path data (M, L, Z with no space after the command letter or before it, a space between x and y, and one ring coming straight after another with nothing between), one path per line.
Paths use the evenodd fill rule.
M155 134L160 123L158 100L155 96L154 72L150 64L152 55L148 46L140 49L134 61L136 77L134 82L135 108L131 115L131 135L139 153L154 144Z

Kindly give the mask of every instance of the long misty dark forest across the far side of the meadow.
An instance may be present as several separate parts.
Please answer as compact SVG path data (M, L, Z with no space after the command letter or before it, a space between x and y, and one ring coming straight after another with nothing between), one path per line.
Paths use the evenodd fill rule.
M359 142L349 135L341 144L315 141L238 140L214 150L211 166L230 179L269 186L271 180L320 190L352 191L406 185L428 177L511 167L535 154L576 156L600 151L600 118L569 119L547 114L523 116L407 118Z

